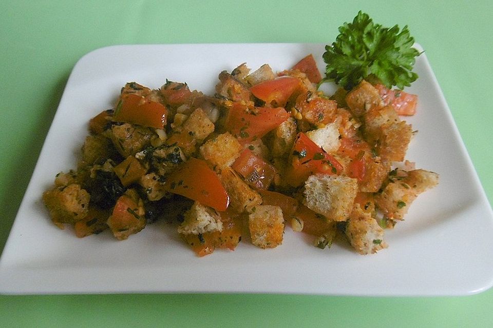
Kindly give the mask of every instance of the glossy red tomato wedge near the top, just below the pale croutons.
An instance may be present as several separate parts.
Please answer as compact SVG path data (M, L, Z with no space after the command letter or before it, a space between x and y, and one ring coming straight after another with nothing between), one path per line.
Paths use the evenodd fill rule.
M250 88L253 95L266 102L267 106L284 107L291 95L301 87L296 77L281 76L261 82Z

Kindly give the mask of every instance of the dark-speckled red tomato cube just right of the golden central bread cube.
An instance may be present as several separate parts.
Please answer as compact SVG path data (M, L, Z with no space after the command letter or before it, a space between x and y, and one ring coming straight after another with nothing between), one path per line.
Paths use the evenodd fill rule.
M277 172L274 166L256 155L250 149L245 149L232 165L250 186L258 189L267 189L271 185Z

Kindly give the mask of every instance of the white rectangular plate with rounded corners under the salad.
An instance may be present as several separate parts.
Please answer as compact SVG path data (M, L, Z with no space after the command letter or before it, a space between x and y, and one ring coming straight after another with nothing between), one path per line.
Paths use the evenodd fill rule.
M246 62L291 67L320 44L196 44L113 46L74 67L0 262L0 292L59 293L294 293L325 295L464 295L493 285L493 214L426 56L411 88L418 135L407 158L440 174L440 185L412 204L387 231L389 248L356 254L343 244L312 247L286 229L283 244L260 250L240 243L196 257L165 224L125 241L109 232L83 239L61 231L41 202L56 173L76 166L88 119L111 107L127 81L158 88L169 80L212 94L221 70ZM68 228L67 228L68 229Z

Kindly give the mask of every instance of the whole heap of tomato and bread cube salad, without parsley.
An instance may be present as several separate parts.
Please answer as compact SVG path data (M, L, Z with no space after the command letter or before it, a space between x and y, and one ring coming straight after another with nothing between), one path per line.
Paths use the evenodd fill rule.
M375 78L327 95L320 80L310 54L282 72L220 72L214 95L127 83L43 194L51 220L119 240L167 220L199 256L242 239L275 248L285 229L322 249L337 236L361 254L386 248L384 231L438 183L405 159L416 132L402 115L418 98Z

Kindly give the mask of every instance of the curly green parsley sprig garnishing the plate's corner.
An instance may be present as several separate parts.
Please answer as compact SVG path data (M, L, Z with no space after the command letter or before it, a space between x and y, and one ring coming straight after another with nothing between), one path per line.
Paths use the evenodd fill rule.
M412 48L414 38L407 26L402 30L397 25L386 28L359 11L352 23L339 27L339 32L336 41L325 47L324 81L334 80L350 90L374 75L386 87L402 90L418 78L412 67L420 52Z

